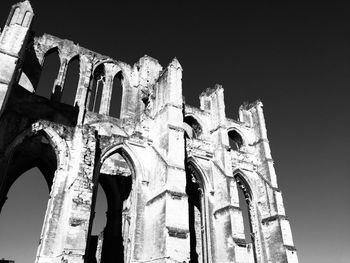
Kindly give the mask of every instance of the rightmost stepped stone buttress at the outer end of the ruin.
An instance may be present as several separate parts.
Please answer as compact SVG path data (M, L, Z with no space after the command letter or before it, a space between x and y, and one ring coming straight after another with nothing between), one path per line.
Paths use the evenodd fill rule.
M261 232L263 246L267 258L271 262L297 263L297 253L294 247L288 217L285 215L281 191L277 188L277 177L267 130L262 103L257 101L246 107L241 107L241 120L250 125L255 133L255 151L260 160L256 173L265 180L266 189L257 188L257 195L264 196L265 204L261 204ZM262 202L263 203L263 202ZM264 207L269 207L265 209Z

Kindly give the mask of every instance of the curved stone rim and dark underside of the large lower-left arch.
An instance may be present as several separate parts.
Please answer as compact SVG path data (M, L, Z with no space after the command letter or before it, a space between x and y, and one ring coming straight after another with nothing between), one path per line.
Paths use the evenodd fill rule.
M60 174L64 174L68 169L67 160L69 159L69 151L65 141L54 131L52 127L46 126L44 123L35 123L32 125L31 128L28 128L27 130L20 133L12 141L12 143L10 143L10 145L7 146L4 154L4 159L1 163L1 168L4 171L4 173L2 173L2 180L0 185L0 210L4 202L6 201L6 196L13 183L20 176L22 176L24 172L28 171L29 169L33 167L39 167L40 169L40 164L37 163L38 160L35 160L35 158L30 159L28 160L28 163L23 164L23 158L17 154L17 152L20 152L20 154L22 154L21 150L26 149L26 147L30 146L28 142L35 142L36 144L34 144L34 146L39 145L43 147L42 149L44 151L41 148L38 149L39 154L41 153L42 155L39 156L39 158L46 160L44 162L48 161L48 165L51 166L49 170L46 170L48 174L45 174L43 171L41 171L48 184L50 194L48 193L49 202L47 203L46 213L43 218L44 224L41 233L38 233L38 237L40 236L41 239L39 248L37 250L39 253L41 246L45 243L46 238L48 238L46 236L43 237L43 233L44 229L48 227L47 222L50 218L50 215L52 215L55 206L55 204L53 204L51 201L51 194L53 193L53 191L58 190L61 191L61 193L58 193L58 195L63 195L62 192L64 191L64 188L58 188L56 182ZM47 147L51 152L45 151ZM29 148L28 150L32 153L32 148ZM52 157L53 155L54 157ZM18 156L19 159L17 159ZM17 161L19 163L16 164L13 163L13 161ZM52 161L55 161L56 163L53 164ZM39 160L39 162L42 161ZM16 166L23 167L17 169ZM59 204L56 204L56 206L57 205Z

